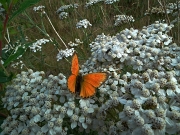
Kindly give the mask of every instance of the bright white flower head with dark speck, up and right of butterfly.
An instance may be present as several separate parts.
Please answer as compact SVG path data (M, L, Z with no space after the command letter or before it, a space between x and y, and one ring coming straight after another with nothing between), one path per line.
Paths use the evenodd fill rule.
M95 42L90 44L92 55L99 62L112 61L115 58L122 62L127 57L129 50L125 43L119 42L116 36L98 35Z

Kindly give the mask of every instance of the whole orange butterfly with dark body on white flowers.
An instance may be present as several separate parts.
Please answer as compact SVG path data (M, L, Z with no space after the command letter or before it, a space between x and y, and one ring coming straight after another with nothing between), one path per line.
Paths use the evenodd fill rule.
M87 98L95 94L96 88L106 81L108 74L103 72L79 74L79 63L76 54L72 58L71 76L68 78L68 89L72 93L78 93L80 97Z

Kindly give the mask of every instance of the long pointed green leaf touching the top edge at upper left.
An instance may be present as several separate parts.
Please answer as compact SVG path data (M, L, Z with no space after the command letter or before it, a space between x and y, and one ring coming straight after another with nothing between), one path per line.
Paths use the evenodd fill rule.
M12 19L13 19L15 16L21 14L21 13L24 12L28 7L30 7L30 6L32 6L32 5L35 5L35 4L38 3L39 1L41 1L41 0L24 0L24 1L21 3L21 5L19 6L19 9L18 9L16 12L14 12L14 13L12 14L12 16L9 18L9 22L12 21Z

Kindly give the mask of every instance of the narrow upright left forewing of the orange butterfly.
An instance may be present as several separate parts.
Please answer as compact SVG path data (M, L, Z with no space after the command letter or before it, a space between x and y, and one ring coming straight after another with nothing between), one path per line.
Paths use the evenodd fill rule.
M72 58L71 72L76 76L79 74L79 62L76 53L73 55Z

